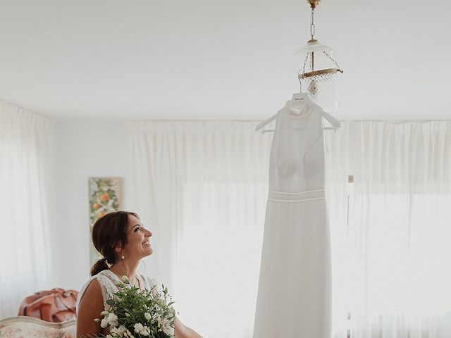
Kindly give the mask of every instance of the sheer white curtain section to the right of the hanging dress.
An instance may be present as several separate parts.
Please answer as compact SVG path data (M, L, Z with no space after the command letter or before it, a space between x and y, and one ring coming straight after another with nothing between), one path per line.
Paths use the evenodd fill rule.
M347 122L326 144L334 337L451 337L451 122Z

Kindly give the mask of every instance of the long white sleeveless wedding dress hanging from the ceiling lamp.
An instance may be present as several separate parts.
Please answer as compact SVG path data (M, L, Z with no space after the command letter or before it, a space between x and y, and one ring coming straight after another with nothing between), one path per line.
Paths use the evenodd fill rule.
M330 230L321 107L277 113L254 338L330 338Z

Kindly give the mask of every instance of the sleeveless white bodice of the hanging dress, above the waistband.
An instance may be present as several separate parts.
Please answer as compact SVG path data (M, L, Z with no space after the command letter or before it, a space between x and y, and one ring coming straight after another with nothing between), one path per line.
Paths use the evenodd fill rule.
M307 99L296 116L280 109L271 144L269 190L306 192L324 189L324 140L321 107Z

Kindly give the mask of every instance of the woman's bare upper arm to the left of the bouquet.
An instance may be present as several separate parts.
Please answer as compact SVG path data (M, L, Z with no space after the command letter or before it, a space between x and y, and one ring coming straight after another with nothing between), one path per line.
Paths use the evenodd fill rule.
M96 279L89 283L78 306L77 335L75 338L99 336L102 330L100 323L94 322L94 318L101 318L104 311L104 299L101 296L100 284Z

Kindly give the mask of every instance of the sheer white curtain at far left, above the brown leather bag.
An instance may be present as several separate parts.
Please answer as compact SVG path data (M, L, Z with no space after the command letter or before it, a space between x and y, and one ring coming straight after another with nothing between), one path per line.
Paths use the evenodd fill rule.
M44 189L49 121L0 102L0 318L51 276Z

